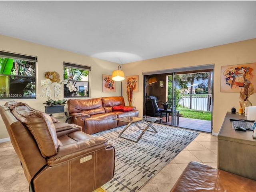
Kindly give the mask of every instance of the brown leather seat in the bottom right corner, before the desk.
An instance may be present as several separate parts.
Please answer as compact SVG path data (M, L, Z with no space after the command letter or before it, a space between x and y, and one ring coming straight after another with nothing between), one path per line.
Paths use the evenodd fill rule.
M171 192L255 192L256 181L190 162Z

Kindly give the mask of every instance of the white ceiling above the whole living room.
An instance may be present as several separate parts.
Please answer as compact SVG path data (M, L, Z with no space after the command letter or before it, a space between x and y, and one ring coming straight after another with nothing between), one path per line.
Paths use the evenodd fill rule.
M256 38L256 1L0 1L0 34L124 64Z

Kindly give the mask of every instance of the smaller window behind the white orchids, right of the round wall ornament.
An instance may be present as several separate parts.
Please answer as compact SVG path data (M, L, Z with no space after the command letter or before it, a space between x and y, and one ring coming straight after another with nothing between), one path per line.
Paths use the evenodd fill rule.
M89 71L90 66L83 66L64 62L64 80L72 82L75 90L70 92L64 84L64 98L69 97L89 97Z

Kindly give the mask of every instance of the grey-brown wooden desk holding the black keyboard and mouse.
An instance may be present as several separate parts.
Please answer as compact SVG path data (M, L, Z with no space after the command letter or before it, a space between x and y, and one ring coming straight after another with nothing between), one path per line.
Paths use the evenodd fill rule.
M218 168L256 180L256 139L252 131L234 130L230 118L247 119L238 113L226 113L218 133Z

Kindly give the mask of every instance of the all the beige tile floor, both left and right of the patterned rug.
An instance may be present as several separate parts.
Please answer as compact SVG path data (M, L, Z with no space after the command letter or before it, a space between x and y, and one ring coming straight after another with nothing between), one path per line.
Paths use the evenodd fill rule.
M190 161L202 162L217 168L217 146L217 136L200 133L139 192L170 192ZM28 182L10 141L0 143L0 192L6 191L29 191Z

